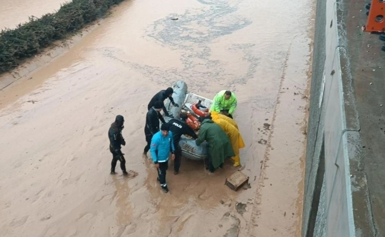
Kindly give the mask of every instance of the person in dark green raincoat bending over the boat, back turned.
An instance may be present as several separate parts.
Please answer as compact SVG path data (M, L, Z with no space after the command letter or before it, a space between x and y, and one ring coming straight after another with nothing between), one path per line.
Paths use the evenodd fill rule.
M201 125L195 143L199 146L203 141L207 141L209 161L206 169L214 172L216 168L222 166L225 158L234 157L235 153L229 137L218 124L206 117L199 117L199 122Z

